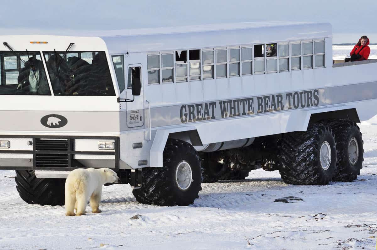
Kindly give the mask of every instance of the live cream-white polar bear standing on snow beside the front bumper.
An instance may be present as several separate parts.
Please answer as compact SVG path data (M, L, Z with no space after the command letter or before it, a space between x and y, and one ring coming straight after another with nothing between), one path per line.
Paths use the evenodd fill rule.
M66 215L84 215L86 204L90 197L90 207L93 213L100 213L102 186L105 183L119 182L116 172L109 168L78 168L71 171L65 184ZM76 214L74 212L76 209Z

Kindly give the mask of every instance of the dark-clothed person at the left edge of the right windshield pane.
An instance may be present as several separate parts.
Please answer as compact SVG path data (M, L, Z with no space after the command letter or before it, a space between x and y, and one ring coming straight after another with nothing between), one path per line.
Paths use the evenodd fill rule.
M70 81L70 70L64 58L59 54L51 55L47 61L47 70L54 95L65 95L67 83Z

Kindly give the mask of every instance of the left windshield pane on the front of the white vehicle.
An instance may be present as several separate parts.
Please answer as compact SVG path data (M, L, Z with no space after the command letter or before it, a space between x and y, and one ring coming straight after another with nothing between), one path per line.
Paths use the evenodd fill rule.
M0 95L51 95L36 51L0 51Z

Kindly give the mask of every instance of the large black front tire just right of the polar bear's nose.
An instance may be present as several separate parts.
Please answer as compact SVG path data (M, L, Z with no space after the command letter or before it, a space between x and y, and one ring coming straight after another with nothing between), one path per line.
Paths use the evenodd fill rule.
M193 204L202 190L201 162L196 150L187 142L168 139L162 159L162 168L143 168L143 184L132 191L136 200L158 206Z

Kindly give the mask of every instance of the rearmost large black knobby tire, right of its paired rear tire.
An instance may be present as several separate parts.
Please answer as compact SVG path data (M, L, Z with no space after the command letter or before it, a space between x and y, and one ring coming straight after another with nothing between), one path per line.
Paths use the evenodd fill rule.
M335 135L337 162L334 181L353 181L363 168L363 139L359 126L350 120L328 123Z

